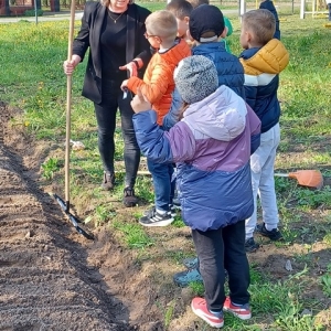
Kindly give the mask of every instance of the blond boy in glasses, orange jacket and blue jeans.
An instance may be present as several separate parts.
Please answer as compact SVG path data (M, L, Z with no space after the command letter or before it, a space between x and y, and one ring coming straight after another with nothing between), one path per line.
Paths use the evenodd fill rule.
M191 50L185 41L177 39L175 18L167 10L156 11L147 18L146 38L158 52L150 60L143 81L130 77L122 82L121 88L127 87L134 93L141 88L158 114L158 125L162 126L163 117L172 102L173 71L182 58L191 55ZM147 211L139 222L145 226L167 226L173 222L171 215L173 166L157 163L150 159L147 159L147 164L152 174L156 206Z

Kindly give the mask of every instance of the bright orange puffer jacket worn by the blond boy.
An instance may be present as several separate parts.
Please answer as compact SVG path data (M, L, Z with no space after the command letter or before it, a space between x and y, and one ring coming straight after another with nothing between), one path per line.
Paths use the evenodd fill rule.
M142 94L152 104L152 109L158 114L158 124L162 125L163 117L168 114L174 89L173 72L181 60L191 55L191 49L184 40L180 40L173 47L164 53L156 53L143 75L143 79L130 77L128 88L137 94L140 87Z

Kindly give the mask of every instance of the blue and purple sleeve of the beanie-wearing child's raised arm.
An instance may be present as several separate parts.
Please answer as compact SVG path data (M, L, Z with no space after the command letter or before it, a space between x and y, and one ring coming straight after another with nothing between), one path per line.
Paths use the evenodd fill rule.
M141 152L157 163L191 160L195 153L195 139L184 124L175 125L169 132L157 124L154 110L134 115L134 127Z

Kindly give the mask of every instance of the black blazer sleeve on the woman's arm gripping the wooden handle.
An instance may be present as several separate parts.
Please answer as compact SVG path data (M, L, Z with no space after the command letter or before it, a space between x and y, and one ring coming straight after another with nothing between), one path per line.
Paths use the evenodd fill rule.
M93 7L92 2L86 2L84 8L84 13L82 17L82 25L79 32L73 42L73 54L79 55L82 62L84 60L87 49L89 47L89 20L93 10L92 7Z

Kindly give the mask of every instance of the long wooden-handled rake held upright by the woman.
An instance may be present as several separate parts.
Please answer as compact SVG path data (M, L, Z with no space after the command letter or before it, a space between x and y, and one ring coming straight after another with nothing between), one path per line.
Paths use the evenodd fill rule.
M73 39L74 39L74 22L75 22L75 0L72 0L71 6L71 21L70 21L70 35L68 35L68 51L67 58L71 61L73 54ZM72 76L66 76L66 138L65 138L65 201L63 201L57 194L53 194L55 200L61 205L64 213L73 223L76 231L87 239L93 241L94 236L88 234L85 229L78 226L82 223L70 212L70 150L71 150L71 106L72 106Z

